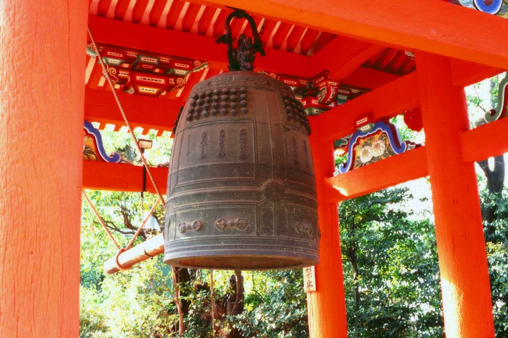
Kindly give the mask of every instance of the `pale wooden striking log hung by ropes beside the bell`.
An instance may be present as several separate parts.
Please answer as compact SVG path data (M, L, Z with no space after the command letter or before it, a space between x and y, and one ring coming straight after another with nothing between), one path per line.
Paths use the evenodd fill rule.
M132 247L129 250L122 252L118 256L118 263L124 268L130 268L133 265L140 263L148 258L157 256L164 252L164 238L162 233L158 234L151 239ZM104 272L106 274L114 274L119 272L120 269L116 265L115 257L108 259L104 263Z

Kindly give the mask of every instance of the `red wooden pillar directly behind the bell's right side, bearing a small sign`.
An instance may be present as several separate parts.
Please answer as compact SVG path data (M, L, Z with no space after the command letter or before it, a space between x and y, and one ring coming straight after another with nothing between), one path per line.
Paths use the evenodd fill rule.
M324 179L333 175L333 143L320 142L319 123L310 117L317 213L321 231L320 263L315 266L316 292L307 293L310 338L347 337L337 204L325 202Z

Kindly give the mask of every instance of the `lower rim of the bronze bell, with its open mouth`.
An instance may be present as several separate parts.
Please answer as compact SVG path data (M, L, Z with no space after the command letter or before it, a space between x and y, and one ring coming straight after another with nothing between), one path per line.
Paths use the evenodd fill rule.
M304 268L319 263L319 258L301 252L278 251L262 254L257 250L231 251L207 255L204 252L165 254L164 262L171 266L208 270L267 271Z

